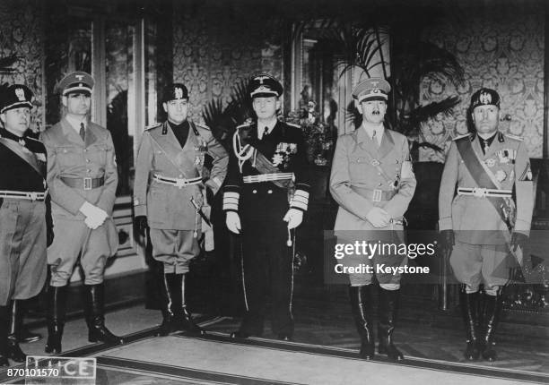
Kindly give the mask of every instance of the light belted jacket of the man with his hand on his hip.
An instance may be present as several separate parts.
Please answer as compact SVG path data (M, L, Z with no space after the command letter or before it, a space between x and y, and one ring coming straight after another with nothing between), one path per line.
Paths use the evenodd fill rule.
M172 230L200 228L191 198L204 204L204 184L178 187L153 180L154 175L168 178L201 177L205 154L213 158L210 177L205 181L213 193L222 186L227 173L228 156L213 138L208 127L189 122L187 141L181 148L168 122L144 131L135 162L135 216L145 215L150 227ZM194 126L194 127L193 127Z

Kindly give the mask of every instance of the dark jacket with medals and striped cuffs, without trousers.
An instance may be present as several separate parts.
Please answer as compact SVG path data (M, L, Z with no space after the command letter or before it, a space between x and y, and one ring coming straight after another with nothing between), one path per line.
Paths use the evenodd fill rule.
M289 207L306 211L309 207L309 175L307 173L307 156L305 142L299 125L278 121L271 133L261 140L257 137L257 123L242 124L237 128L238 140L242 146L249 144L253 149L263 154L275 172L293 174L293 184L290 191ZM236 137L235 137L236 138ZM239 162L236 149L233 146L229 161L229 171L223 194L223 210L239 212L241 190L249 188L257 190L258 184L265 184L266 192L278 192L280 184L263 182L258 184L244 184L243 178L253 175L273 174L261 172L255 167L257 159L252 154L248 159ZM264 187L265 187L264 185ZM283 194L288 199L288 194ZM246 202L243 202L246 204ZM288 208L288 206L286 206ZM252 209L254 210L254 209ZM257 208L269 210L269 208Z

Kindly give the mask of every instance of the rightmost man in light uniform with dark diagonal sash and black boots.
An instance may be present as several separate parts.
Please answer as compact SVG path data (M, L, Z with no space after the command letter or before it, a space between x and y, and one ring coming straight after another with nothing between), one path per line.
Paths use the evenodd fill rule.
M495 90L476 91L469 112L475 133L459 136L450 145L440 182L439 227L443 246L451 252L452 270L462 283L466 360L474 361L482 354L494 361L501 287L508 283L501 267L517 266L516 258L520 260L529 234L532 172L522 139L498 131L500 96ZM484 316L479 329L481 284Z

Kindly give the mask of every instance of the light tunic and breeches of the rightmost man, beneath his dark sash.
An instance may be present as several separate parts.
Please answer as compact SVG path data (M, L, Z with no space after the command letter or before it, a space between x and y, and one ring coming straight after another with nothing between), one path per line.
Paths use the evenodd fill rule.
M492 172L500 184L499 189L515 190L517 210L513 230L526 235L534 206L532 175L526 146L520 138L497 133L485 154L479 139L476 135L465 135L450 145L440 182L439 227L455 232L456 245L450 264L459 282L470 287L481 283L486 287L502 286L508 281L505 268L514 262L514 257L508 258L510 232L492 205L492 198L455 195L456 187L487 187L475 182L457 143L470 141L475 156Z

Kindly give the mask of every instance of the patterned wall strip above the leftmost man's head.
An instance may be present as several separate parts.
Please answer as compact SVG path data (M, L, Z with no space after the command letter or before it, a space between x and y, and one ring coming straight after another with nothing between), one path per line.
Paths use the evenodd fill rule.
M0 73L0 83L22 83L41 104L35 111L33 130L43 127L44 95L42 92L42 2L39 0L0 1L0 57L22 56L14 73Z

